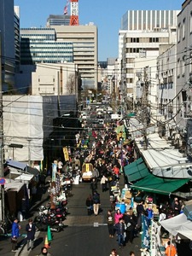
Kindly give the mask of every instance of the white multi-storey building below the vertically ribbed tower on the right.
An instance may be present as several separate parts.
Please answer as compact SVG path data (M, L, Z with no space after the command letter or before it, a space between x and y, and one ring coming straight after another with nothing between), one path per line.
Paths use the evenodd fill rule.
M134 95L136 81L134 79L135 61L138 58L143 59L145 67L148 66L148 60L156 59L159 55L161 44L174 44L176 38L176 30L161 30L160 32L144 32L144 31L128 31L125 33L123 57L122 57L122 73L126 75L127 96L135 99Z

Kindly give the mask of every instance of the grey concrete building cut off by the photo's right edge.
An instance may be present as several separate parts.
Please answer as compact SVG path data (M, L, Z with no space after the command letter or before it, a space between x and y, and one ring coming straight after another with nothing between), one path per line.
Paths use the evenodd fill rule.
M189 148L192 137L192 1L183 2L177 15L177 131L187 135ZM187 133L187 134L186 134ZM183 143L184 143L183 142ZM191 155L192 149L189 148Z

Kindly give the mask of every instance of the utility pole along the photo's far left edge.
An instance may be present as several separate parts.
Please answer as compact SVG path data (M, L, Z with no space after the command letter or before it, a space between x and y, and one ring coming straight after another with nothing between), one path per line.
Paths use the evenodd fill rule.
M4 177L3 168L3 89L2 89L2 38L0 32L0 177ZM0 186L0 218L4 224L4 185Z

